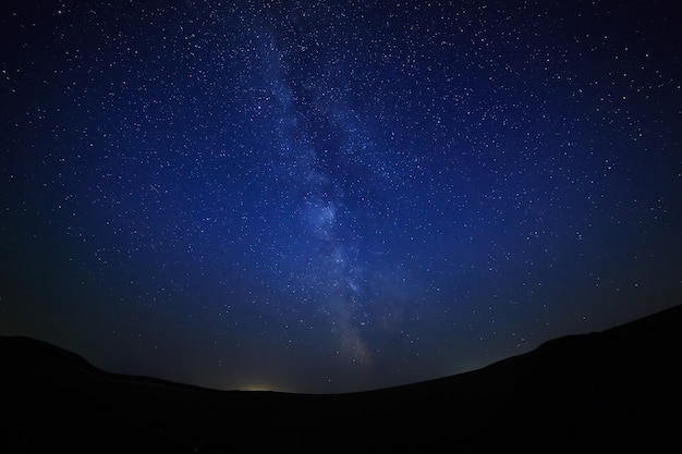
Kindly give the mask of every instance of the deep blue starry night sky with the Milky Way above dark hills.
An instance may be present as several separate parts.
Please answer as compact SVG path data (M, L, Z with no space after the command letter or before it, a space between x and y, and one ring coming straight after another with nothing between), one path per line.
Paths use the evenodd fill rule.
M0 12L0 334L338 393L682 303L674 0Z

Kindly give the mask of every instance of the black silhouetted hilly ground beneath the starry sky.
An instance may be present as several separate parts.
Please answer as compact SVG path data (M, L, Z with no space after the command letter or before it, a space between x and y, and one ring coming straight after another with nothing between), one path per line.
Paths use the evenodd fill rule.
M0 453L680 452L682 306L484 369L334 395L110 375L0 338Z

